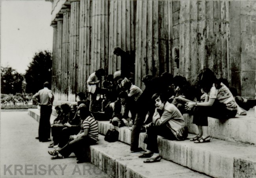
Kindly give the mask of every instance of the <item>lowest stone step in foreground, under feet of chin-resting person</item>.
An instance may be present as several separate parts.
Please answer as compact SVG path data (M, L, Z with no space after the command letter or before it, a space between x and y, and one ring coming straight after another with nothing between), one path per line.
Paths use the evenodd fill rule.
M99 136L97 145L90 147L91 163L113 178L207 178L171 161L143 163L142 152L130 153L130 146L119 141L109 143Z

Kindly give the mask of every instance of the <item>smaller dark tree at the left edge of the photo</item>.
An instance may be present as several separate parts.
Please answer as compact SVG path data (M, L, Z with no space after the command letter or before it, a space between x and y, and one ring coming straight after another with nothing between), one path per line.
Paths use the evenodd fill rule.
M1 67L1 93L22 93L22 81L24 77L10 66Z

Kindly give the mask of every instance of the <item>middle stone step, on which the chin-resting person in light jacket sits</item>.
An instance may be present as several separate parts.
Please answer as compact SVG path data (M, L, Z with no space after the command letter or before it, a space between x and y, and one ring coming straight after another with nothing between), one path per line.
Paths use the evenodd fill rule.
M128 127L115 127L108 121L99 121L99 132L106 134L108 129L119 131L119 140L130 144L131 130ZM189 138L194 137L189 134ZM145 133L139 137L139 146L146 149ZM196 144L189 139L170 141L158 137L161 156L198 172L217 178L256 177L256 147L245 143L236 143L220 139L211 139L210 143Z

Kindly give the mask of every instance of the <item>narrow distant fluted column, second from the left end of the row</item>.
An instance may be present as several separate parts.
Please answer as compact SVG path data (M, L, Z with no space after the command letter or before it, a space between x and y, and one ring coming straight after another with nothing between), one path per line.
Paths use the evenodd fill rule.
M57 92L56 92L56 100L61 100L61 64L62 64L62 22L63 18L58 17L56 18L57 21L57 53L56 53L56 59L57 59Z

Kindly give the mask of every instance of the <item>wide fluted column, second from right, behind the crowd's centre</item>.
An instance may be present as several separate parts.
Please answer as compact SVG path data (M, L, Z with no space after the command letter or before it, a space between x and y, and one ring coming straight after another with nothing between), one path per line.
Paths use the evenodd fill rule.
M137 1L136 12L135 84L144 87L143 75L170 70L171 2Z

